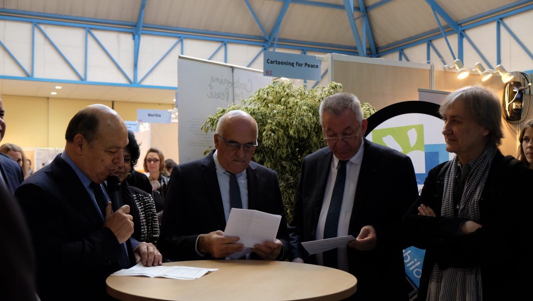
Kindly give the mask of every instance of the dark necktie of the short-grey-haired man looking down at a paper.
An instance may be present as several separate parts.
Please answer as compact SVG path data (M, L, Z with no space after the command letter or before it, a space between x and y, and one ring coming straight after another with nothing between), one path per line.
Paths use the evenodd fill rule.
M324 239L337 237L338 217L341 214L344 182L346 181L346 162L338 161L337 177L333 186L332 199L329 202L326 223L324 224ZM337 249L324 252L324 265L337 268Z

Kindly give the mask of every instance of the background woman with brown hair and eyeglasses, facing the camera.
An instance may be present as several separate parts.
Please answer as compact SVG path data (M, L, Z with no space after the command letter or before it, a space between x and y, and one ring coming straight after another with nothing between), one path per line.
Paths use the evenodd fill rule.
M156 203L158 216L163 214L163 203L168 185L168 172L165 170L165 156L156 147L148 149L144 157L144 170L148 171L147 176L152 184L152 196Z

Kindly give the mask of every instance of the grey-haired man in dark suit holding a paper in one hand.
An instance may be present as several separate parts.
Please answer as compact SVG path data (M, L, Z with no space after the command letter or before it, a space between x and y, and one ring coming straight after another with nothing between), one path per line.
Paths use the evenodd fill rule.
M328 146L303 160L289 257L353 274L356 300L407 300L399 229L418 195L413 164L363 137L367 120L353 94L325 98L319 114ZM346 235L357 238L316 255L301 245Z

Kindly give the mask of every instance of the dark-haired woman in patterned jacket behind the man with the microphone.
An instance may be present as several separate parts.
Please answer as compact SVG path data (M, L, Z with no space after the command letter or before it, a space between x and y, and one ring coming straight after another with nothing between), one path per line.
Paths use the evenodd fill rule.
M123 186L122 197L125 203L136 205L136 208L132 208L132 212L139 216L139 219L133 222L132 237L137 241L156 244L159 239L159 223L154 199L141 189L128 185L126 181L126 178L133 176L132 170L140 156L141 150L135 135L128 131L128 145L124 148L124 165L119 166L117 171L117 176Z

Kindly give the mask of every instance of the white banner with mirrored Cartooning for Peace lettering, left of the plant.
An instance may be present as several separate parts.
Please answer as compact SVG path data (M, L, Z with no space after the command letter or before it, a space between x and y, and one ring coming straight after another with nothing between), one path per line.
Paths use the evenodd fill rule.
M213 132L200 130L207 116L248 99L271 82L261 70L185 56L179 57L177 70L180 162L203 157L204 151L214 146Z

